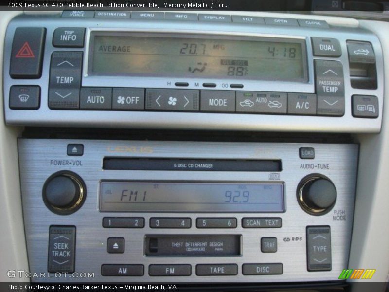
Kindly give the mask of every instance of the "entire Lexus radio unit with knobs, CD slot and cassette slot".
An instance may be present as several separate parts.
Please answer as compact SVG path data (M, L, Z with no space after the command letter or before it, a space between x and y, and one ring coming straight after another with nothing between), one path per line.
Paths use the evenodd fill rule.
M357 145L18 145L32 273L94 273L85 281L302 282L338 280L347 267ZM82 152L67 152L73 148ZM34 281L66 276L57 275Z

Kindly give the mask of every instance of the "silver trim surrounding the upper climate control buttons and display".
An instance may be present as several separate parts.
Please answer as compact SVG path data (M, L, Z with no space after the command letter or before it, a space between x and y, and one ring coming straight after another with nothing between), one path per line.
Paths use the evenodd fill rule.
M44 26L47 28L45 44L45 58L42 77L37 80L12 79L9 76L11 46L15 29L19 26ZM180 29L177 29L179 24ZM279 91L314 93L314 59L338 60L343 64L345 77L345 115L342 117L318 116L288 116L263 114L224 114L204 112L146 112L146 111L88 111L88 110L50 110L48 108L48 84L50 55L58 50L52 45L53 31L57 27L86 27L86 47L83 49L66 49L61 51L80 50L84 52L82 86L130 87L136 84L141 88L179 88L175 82L189 82L187 89L202 89L195 86L209 82L205 79L188 78L136 78L136 77L100 77L87 75L88 49L91 31L118 31L118 32L163 32L181 34L219 34L227 36L249 37L283 37L304 39L307 46L308 82L274 82L274 81L246 81L242 91ZM313 57L310 37L332 37L341 43L342 56L339 58ZM376 56L377 83L376 90L353 89L347 76L350 75L346 40L361 40L371 42ZM378 38L371 32L350 27L335 27L329 29L315 29L309 27L285 27L271 25L247 25L239 23L208 23L185 21L153 21L153 20L114 20L85 18L74 19L58 18L50 15L19 16L14 18L7 29L4 50L4 108L5 119L9 125L28 126L67 126L67 127L105 127L105 128L171 128L171 129L219 129L219 130L254 130L254 131L315 131L315 132L379 132L382 115L377 119L354 118L351 113L352 95L375 95L379 101L379 112L383 106L383 58ZM237 83L237 80L227 81L212 79L215 88L208 90L227 90L223 84ZM170 82L170 85L168 85ZM242 82L238 82L242 83ZM12 85L39 85L41 92L41 106L39 110L11 110L9 104L9 89ZM182 89L182 88L180 88ZM231 90L228 88L228 90Z

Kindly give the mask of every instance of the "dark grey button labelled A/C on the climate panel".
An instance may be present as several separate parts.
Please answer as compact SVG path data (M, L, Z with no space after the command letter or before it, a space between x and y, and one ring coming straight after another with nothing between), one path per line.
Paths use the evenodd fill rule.
M288 93L288 114L316 115L316 94Z

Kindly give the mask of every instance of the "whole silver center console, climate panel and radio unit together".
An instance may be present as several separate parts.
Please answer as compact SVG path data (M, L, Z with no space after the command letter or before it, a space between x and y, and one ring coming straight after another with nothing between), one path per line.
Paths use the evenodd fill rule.
M5 43L10 126L327 134L383 121L383 51L359 27L64 11L12 19ZM29 267L58 275L33 281L339 280L359 145L314 138L20 137Z

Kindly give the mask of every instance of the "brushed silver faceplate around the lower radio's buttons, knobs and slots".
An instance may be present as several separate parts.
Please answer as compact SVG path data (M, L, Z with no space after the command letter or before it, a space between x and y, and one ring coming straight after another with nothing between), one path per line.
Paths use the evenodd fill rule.
M71 157L66 154L70 143L82 143L84 155ZM47 272L48 234L50 225L75 225L76 259L75 272L94 273L94 278L84 281L155 281L148 275L151 264L191 264L192 275L188 277L163 277L164 281L209 281L207 276L196 276L196 264L238 264L238 275L214 277L212 281L223 282L298 282L337 280L347 267L354 213L354 195L357 168L357 145L338 144L285 144L285 143L217 143L217 142L153 142L153 141L99 141L99 140L47 140L19 139L19 167L22 204L30 272ZM301 160L300 147L314 147L314 160ZM283 170L269 172L217 172L217 171L120 171L103 170L102 159L116 157L159 158L212 158L212 159L281 159ZM57 165L69 161L67 165ZM73 165L73 161L78 161ZM63 164L63 162L61 163ZM314 164L313 169L310 169ZM328 164L328 167L326 166ZM315 165L317 167L315 167ZM308 168L307 168L308 167ZM70 170L80 175L87 187L84 205L67 216L56 215L48 210L42 200L42 187L54 172ZM334 208L322 216L304 212L296 196L300 180L310 173L329 177L336 185L337 200ZM274 180L279 176L279 180ZM98 192L100 180L181 180L181 181L229 181L283 182L285 212L261 214L239 213L124 213L99 212ZM346 220L334 220L335 212L343 212ZM271 215L271 216L270 216ZM239 234L242 235L242 256L239 257L145 257L144 235L177 234L177 229L151 229L152 217L185 217L192 219L192 226L179 229L178 234ZM143 217L144 228L103 228L103 217ZM196 218L235 217L238 226L232 229L198 229ZM242 228L244 217L279 217L281 228ZM328 225L331 227L332 270L308 272L306 263L306 226ZM124 237L124 254L108 254L107 238ZM276 253L262 253L261 237L276 237ZM291 239L291 238L295 239ZM289 238L289 241L288 239ZM242 275L245 263L283 263L283 274ZM142 277L102 277L102 264L143 264ZM33 278L33 281L64 281L68 278ZM159 279L160 280L160 279Z

